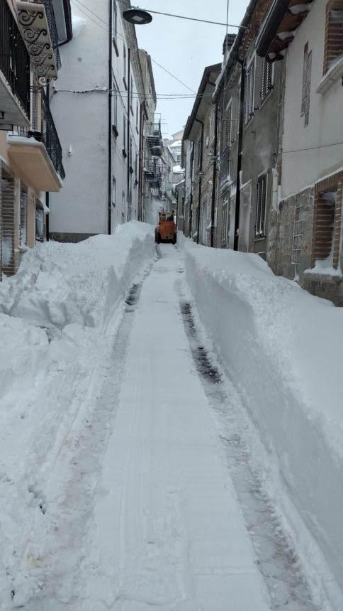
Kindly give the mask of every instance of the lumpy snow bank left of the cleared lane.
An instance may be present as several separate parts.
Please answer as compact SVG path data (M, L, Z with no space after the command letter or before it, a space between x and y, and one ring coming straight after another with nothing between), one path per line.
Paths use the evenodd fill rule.
M153 256L151 227L131 222L114 236L40 244L0 285L1 611L41 587L47 558L37 541L52 558L52 517L71 481L69 437L82 437L94 371L113 349L125 293Z

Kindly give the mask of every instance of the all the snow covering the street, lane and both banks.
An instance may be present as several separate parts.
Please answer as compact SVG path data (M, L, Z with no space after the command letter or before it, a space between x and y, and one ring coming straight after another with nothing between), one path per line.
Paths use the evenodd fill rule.
M138 222L0 304L1 611L342 611L342 308Z

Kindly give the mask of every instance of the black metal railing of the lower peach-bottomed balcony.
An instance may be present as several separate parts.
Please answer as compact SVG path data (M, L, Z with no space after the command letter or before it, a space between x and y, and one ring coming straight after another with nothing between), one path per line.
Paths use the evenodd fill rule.
M62 146L57 135L54 119L50 112L49 103L43 89L33 90L33 108L31 135L39 142L43 142L47 149L52 165L61 178L65 178L62 164Z

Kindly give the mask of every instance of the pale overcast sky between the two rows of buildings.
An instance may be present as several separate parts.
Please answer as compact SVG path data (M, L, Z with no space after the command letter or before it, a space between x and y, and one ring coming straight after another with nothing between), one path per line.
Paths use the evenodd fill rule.
M229 23L239 24L249 0L230 0ZM132 1L133 6L135 2ZM138 3L137 3L138 4ZM210 21L226 22L227 0L140 0L142 9L177 13ZM237 33L237 28L228 28ZM185 21L152 14L152 23L137 26L137 40L164 68L172 72L194 92L198 91L205 66L223 59L225 26ZM152 62L157 98L161 94L191 94L181 83ZM194 99L157 99L157 112L162 113L164 137L179 131L191 113Z

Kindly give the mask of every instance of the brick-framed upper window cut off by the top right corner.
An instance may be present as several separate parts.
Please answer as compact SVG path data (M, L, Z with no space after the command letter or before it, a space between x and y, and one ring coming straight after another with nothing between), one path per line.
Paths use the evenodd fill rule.
M330 0L326 5L324 65L322 73L343 55L343 0Z

